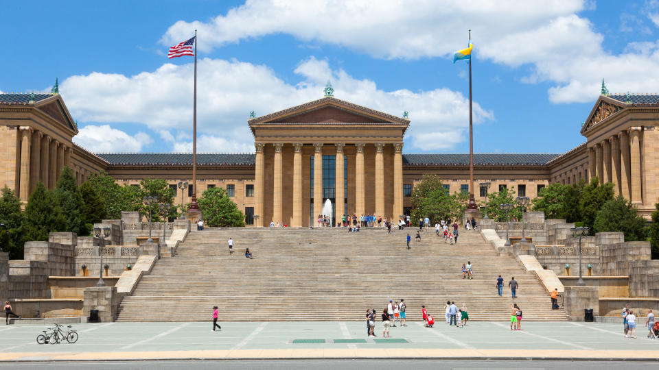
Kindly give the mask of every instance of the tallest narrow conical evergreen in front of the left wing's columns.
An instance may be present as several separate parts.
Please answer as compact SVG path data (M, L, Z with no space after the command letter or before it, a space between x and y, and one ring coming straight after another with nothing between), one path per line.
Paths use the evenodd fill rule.
M76 185L76 179L73 177L71 167L62 167L60 177L55 186L54 195L66 219L66 231L75 232L78 235L89 234L91 230L86 230L82 222L82 195L80 194L78 185Z

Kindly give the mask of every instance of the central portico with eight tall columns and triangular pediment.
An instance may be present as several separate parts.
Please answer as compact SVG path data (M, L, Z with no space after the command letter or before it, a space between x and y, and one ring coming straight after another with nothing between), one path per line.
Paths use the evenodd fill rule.
M326 94L248 121L256 147L256 226L314 225L326 199L334 220L343 214L403 214L409 119Z

